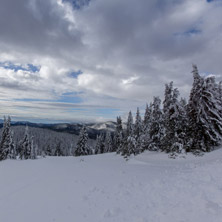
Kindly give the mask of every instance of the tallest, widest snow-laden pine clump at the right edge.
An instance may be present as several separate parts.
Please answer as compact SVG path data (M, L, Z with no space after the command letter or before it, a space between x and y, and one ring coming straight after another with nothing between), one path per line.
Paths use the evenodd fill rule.
M194 82L188 104L190 150L209 152L222 139L222 107L215 93L218 87L213 77L201 77L196 65L193 65L192 73Z

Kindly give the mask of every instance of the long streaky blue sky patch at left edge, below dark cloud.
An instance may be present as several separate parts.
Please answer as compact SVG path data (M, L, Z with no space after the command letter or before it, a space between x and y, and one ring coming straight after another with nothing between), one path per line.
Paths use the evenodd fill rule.
M39 72L40 68L39 66L35 66L33 64L14 64L12 62L0 62L0 67L3 67L4 69L11 69L15 72L22 70L22 71L30 71L30 72Z

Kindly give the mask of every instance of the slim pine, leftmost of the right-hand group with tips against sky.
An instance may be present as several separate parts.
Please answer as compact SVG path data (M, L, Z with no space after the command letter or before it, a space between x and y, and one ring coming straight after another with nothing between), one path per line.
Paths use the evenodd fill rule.
M122 119L120 116L117 116L116 130L114 132L114 138L113 138L113 151L116 151L116 153L121 153L122 143L123 143Z

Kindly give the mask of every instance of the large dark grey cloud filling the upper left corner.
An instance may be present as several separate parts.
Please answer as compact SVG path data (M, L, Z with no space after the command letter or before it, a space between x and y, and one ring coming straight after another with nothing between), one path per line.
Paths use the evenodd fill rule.
M59 57L70 47L79 50L81 31L69 31L71 23L64 16L53 0L2 0L0 45L34 56Z

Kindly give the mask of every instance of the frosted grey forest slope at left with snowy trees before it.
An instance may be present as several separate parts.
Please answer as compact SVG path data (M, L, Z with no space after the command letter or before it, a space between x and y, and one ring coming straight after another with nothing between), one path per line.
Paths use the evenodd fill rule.
M36 159L45 156L73 156L79 136L49 129L11 126L4 117L0 135L0 160ZM90 150L95 140L87 139Z

